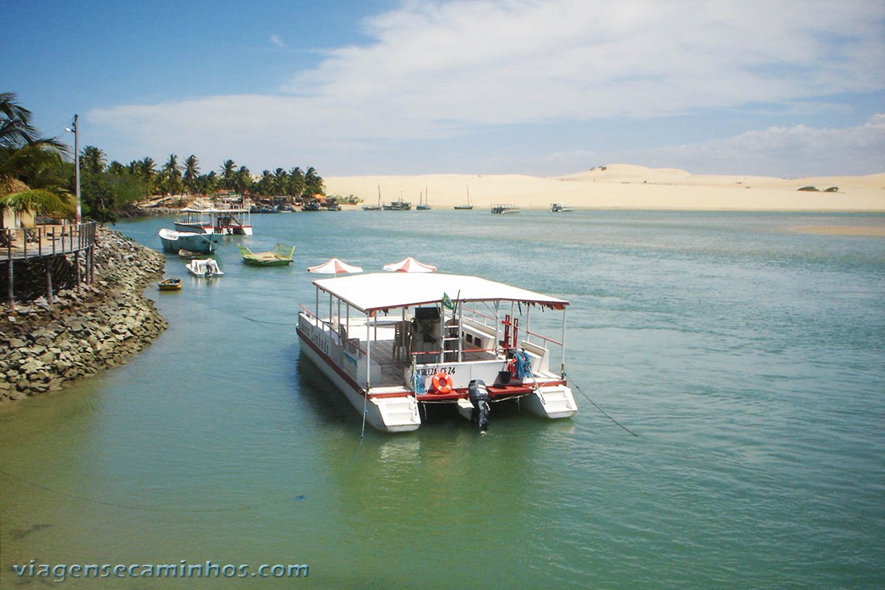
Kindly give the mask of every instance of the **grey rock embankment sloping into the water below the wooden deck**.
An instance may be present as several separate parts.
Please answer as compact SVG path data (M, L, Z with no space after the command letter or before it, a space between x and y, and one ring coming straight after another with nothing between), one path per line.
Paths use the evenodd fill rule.
M0 314L0 404L56 391L124 362L168 324L144 289L163 276L165 256L100 228L95 281Z

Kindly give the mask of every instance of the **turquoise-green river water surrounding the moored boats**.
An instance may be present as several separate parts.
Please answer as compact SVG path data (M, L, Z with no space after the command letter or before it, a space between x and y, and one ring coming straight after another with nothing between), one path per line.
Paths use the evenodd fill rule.
M170 323L149 349L0 415L0 585L27 582L12 564L31 559L310 566L246 586L885 585L885 239L791 230L885 216L253 224L226 238L212 283L167 257L185 285L147 291ZM117 229L159 250L164 226ZM235 247L276 242L297 246L293 267L244 266ZM485 437L442 416L360 444L358 413L299 356L304 268L406 255L568 299L579 414L496 412ZM65 581L100 584L181 580Z

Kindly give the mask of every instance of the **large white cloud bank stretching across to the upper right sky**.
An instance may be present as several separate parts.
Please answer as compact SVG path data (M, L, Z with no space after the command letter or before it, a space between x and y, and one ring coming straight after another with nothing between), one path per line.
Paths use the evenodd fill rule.
M512 124L808 105L885 88L883 21L885 4L866 0L407 2L366 21L373 43L328 52L280 95L119 105L89 120L141 138L142 153L199 138L195 151L227 142L246 159L307 141L341 151Z

